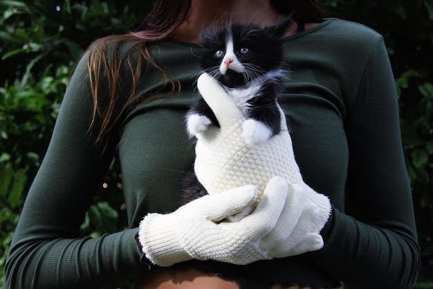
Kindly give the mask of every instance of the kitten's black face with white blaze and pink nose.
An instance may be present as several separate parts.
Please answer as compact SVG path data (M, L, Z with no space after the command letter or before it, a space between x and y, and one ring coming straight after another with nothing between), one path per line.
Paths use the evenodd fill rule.
M240 87L282 64L281 36L248 24L201 34L201 68L228 87Z

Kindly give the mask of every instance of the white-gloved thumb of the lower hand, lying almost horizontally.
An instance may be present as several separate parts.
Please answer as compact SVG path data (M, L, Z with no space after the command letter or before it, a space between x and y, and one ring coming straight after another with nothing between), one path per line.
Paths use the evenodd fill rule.
M257 195L256 186L241 186L221 193L205 195L185 204L182 208L191 214L199 213L208 220L218 222L254 204Z

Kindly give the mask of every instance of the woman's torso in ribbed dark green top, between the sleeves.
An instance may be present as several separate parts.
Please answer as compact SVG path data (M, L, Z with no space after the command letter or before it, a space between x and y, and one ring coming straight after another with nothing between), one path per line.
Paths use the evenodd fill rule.
M362 77L369 57L365 37L374 35L367 28L354 27L331 19L286 37L284 61L291 72L279 99L304 181L329 195L333 206L343 212L349 164L345 122L358 93L353 80ZM353 36L347 28L361 33ZM172 96L134 106L121 125L118 154L131 227L149 212L169 213L179 206L178 186L194 161L194 139L185 130L185 113L192 105L194 82L201 73L199 51L198 45L175 40L151 46L154 59L163 62L182 87ZM358 58L353 60L351 55ZM137 99L147 99L164 96L171 87L158 69L149 66L143 67L139 88ZM273 263L265 262L260 268L267 270ZM293 273L282 273L282 279L297 283L300 272L310 270L317 280L335 284L335 280L311 270L311 261L302 256L278 266L286 268L281 272Z

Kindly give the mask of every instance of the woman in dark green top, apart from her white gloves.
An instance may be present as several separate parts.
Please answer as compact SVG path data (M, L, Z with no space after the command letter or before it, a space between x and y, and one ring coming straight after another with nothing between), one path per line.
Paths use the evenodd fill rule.
M324 247L248 265L158 268L135 237L148 213L176 211L179 180L194 161L184 118L200 73L199 31L228 19L266 26L291 12L297 25L284 40L291 80L280 105L303 179L331 200L320 231ZM314 1L160 0L137 33L95 42L71 78L28 193L6 288L100 288L131 275L141 289L331 288L339 281L347 288L412 288L418 245L383 39L322 18ZM79 238L116 154L131 229Z

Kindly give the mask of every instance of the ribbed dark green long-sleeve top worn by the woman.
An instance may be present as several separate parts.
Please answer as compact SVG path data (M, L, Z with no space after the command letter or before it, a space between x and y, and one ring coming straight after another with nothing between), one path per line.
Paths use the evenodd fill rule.
M86 55L78 63L15 231L6 288L100 288L144 268L134 240L138 223L148 212L178 207L180 179L194 161L185 112L200 73L199 45L167 39L150 49L181 91L149 101L171 87L144 64L135 101L102 155L93 146L98 123L89 131ZM137 53L129 55L132 63ZM317 286L344 281L358 288L412 288L419 268L416 227L383 38L360 24L326 19L286 37L284 60L291 73L280 104L295 157L305 182L329 195L333 211L321 232L323 249L266 261L260 274ZM122 71L120 100L132 85ZM116 156L131 229L80 238L86 210Z

